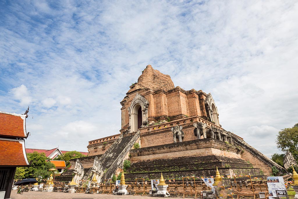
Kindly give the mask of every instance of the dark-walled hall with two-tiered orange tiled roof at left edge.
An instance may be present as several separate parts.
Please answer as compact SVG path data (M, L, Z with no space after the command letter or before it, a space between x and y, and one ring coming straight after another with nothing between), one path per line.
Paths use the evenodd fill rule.
M15 169L29 166L25 152L26 118L23 114L0 111L0 198L10 198Z

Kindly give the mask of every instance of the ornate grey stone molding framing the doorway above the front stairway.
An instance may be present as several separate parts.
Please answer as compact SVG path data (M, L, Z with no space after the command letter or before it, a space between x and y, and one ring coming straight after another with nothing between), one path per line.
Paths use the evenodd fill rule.
M136 94L136 96L134 97L133 101L131 102L131 105L128 107L128 115L129 115L129 127L128 129L131 129L131 116L133 113L133 109L134 107L139 104L142 108L142 127L145 127L148 124L148 106L149 106L149 102L139 93Z

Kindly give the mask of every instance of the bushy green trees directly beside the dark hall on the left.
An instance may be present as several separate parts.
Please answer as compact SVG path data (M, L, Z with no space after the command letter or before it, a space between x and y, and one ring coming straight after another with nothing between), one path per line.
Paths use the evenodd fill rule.
M52 172L49 169L55 168L55 165L48 159L45 153L27 153L28 161L31 162L29 167L17 167L15 172L15 179L21 178L42 178L46 179Z

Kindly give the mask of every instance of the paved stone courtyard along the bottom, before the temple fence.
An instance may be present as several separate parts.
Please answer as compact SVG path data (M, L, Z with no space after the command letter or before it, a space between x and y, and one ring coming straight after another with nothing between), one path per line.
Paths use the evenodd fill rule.
M181 197L181 196L180 196ZM150 197L148 195L107 195L107 194L85 194L85 193L63 193L63 192L24 192L23 194L17 194L17 191L11 191L10 198L12 199L47 199L47 198L53 198L53 199L95 199L95 198L108 198L108 199L149 199L149 198L155 198L156 197ZM178 196L179 198L179 196Z

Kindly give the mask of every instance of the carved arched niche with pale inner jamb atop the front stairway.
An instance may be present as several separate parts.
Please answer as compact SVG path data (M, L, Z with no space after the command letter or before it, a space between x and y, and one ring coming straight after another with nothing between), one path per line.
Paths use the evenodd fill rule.
M131 105L128 107L128 115L129 115L129 127L130 132L138 131L138 116L139 116L139 108L142 110L142 125L144 127L148 124L148 106L149 102L139 93L136 94Z

